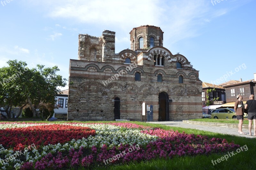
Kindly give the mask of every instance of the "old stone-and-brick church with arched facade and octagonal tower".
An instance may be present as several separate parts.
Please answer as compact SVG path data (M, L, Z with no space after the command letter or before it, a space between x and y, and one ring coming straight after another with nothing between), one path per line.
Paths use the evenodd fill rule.
M164 48L160 27L130 32L131 49L115 53L115 32L80 34L78 60L70 59L68 120L148 121L202 117L202 81L188 59Z

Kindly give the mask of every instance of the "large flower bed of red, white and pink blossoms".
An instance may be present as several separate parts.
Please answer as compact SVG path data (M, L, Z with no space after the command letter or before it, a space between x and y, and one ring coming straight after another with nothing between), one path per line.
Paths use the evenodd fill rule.
M174 156L226 152L239 147L234 143L228 143L225 139L208 139L207 136L179 133L133 123L50 123L45 125L14 122L15 128L10 127L9 124L0 123L2 135L0 137L3 139L0 145L2 169L104 167L152 158L169 159ZM11 135L8 136L8 134ZM50 137L46 137L48 135ZM10 143L10 141L15 142ZM15 150L23 151L24 147L32 143L36 145L33 150L24 151L15 160L4 161L5 158L13 155ZM3 165L1 161L4 162Z

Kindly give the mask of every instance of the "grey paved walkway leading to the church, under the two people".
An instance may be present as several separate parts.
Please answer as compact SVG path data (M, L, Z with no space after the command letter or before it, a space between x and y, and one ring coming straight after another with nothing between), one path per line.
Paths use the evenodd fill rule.
M184 123L182 121L162 121L162 122L147 122L147 123L162 124L162 125L181 127L181 128L198 129L198 130L204 130L204 131L209 131L209 132L222 133L222 134L228 134L228 135L236 135L236 136L248 137L248 138L256 138L256 136L253 136L253 128L252 128L252 136L250 136L249 129L245 129L245 128L243 128L242 131L244 133L246 133L246 135L240 135L240 134L238 134L238 128L195 125L195 124L190 124L190 123Z

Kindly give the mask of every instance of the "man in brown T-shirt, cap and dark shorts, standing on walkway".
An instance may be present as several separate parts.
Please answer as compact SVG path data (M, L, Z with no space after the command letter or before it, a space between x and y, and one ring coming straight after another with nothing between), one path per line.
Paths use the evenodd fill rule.
M236 112L236 119L239 120L238 123L238 133L240 135L246 135L246 133L244 133L242 131L242 126L243 126L243 122L244 122L244 103L242 102L243 100L243 96L242 95L237 95L236 96L236 103L235 103L235 112Z

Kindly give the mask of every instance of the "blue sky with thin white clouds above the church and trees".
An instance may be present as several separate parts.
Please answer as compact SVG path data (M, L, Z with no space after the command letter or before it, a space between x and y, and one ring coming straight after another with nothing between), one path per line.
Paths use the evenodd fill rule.
M68 79L78 35L116 32L116 53L141 25L164 31L164 47L184 55L201 81L220 84L256 73L255 0L0 0L0 67L57 65ZM218 79L220 79L218 81ZM65 89L65 88L62 88ZM67 89L67 88L66 88Z

